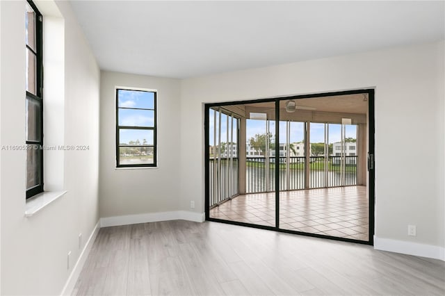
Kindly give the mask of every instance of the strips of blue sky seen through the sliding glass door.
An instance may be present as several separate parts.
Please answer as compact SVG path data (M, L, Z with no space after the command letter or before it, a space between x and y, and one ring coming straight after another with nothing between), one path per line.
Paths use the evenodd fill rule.
M210 110L209 116L209 144L213 145L213 123L214 123L214 111ZM218 116L216 117L218 137ZM275 133L275 121L269 121L269 131ZM254 137L256 134L266 133L266 121L265 120L247 120L246 122L246 139ZM303 122L291 122L290 141L301 142L304 139L304 123ZM234 126L236 128L236 126ZM325 142L324 138L325 124L311 123L310 124L310 138L311 142ZM230 131L230 122L229 122ZM227 139L227 115L223 114L221 117L221 142L226 142ZM236 132L234 131L234 135ZM229 135L230 137L230 135ZM357 126L354 124L346 125L346 138L357 138ZM329 124L329 142L340 142L341 139L341 124ZM218 142L218 138L216 140ZM235 141L234 141L235 142ZM280 142L286 142L286 122L280 122Z

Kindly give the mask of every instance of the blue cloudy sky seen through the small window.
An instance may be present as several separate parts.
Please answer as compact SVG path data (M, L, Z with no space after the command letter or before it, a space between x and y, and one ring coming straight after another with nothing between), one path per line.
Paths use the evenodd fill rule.
M154 127L154 92L118 90L118 120L120 126ZM141 110L152 109L152 110ZM139 140L154 144L154 133L147 129L120 129L119 142Z

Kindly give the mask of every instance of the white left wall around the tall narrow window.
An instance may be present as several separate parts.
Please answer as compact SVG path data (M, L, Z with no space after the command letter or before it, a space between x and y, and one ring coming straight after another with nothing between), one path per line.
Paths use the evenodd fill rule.
M39 3L37 3L39 6ZM42 3L40 3L42 4ZM25 1L0 1L1 145L25 141ZM58 295L99 220L99 68L83 37L70 3L60 1L65 26L63 126L65 142L89 145L88 151L65 151L63 184L67 194L32 217L24 217L23 151L1 152L1 294ZM61 48L60 50L63 50ZM63 118L62 117L62 118ZM48 152L50 153L50 151ZM71 268L67 269L67 253Z

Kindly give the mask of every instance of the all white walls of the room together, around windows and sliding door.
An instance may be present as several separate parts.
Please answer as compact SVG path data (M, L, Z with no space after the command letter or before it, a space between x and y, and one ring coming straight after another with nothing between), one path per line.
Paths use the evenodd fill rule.
M99 217L202 213L204 102L375 87L376 236L444 247L444 42L184 81L101 74L70 3L57 6L65 26L60 144L89 150L65 152L67 194L29 218L24 217L26 156L0 151L2 295L59 294L72 272L67 252L74 263L79 233L84 244ZM1 145L24 143L23 13L24 1L0 1ZM158 168L115 170L115 85L158 90ZM421 140L428 145L410 145ZM396 156L388 153L394 142L404 148ZM430 157L413 163L418 149ZM418 236L407 236L407 224L417 225Z

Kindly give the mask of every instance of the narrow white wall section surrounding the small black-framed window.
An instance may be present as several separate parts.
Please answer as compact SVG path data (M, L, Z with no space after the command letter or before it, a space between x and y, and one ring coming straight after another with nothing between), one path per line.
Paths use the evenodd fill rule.
M115 87L157 90L158 167L115 168ZM100 215L115 217L178 211L179 81L102 72L100 117ZM190 144L188 144L190 145Z

